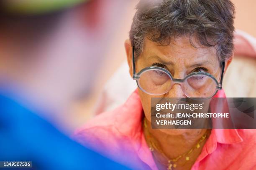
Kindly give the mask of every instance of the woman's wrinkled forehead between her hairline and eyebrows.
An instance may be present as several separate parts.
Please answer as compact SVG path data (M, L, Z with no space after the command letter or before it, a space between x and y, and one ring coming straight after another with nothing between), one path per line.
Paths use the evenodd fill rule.
M215 47L205 47L196 40L191 41L188 37L177 37L171 40L169 45L160 45L146 38L141 57L147 60L154 56L174 64L181 60L184 63L197 60L207 60L212 64L219 63Z

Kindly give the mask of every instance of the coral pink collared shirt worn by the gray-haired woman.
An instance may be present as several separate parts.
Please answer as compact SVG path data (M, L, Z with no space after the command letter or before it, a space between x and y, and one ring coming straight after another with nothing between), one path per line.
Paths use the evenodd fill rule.
M225 97L219 91L215 97ZM83 145L133 169L157 170L142 128L143 110L138 90L111 112L105 112L77 130ZM192 170L256 169L256 130L212 129Z

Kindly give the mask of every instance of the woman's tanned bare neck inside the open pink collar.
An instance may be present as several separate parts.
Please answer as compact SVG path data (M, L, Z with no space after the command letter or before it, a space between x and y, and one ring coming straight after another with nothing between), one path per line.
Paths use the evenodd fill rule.
M147 119L145 121L147 125L147 128L144 128L146 141L147 143L154 143L155 147L158 147L153 147L155 149L154 157L159 157L156 158L156 160L172 160L178 158L180 157L180 155L186 154L193 147L198 145L203 135L210 135L210 130L205 129L172 130L172 133L169 134L165 132L166 130L152 129L151 122L149 122ZM175 131L177 132L176 134ZM147 138L148 135L146 135L146 133L150 135L150 141L148 141L149 139ZM188 155L184 155L184 158L179 158L177 164L182 164L182 169L191 168L192 165L195 163L197 157L200 155L203 145L205 144L205 141L206 140L200 142L200 147L196 148L195 150L192 150L192 152L189 153ZM189 160L186 160L186 157L189 157ZM168 160L166 160L165 162L168 163ZM179 168L181 167L178 166L178 169Z

